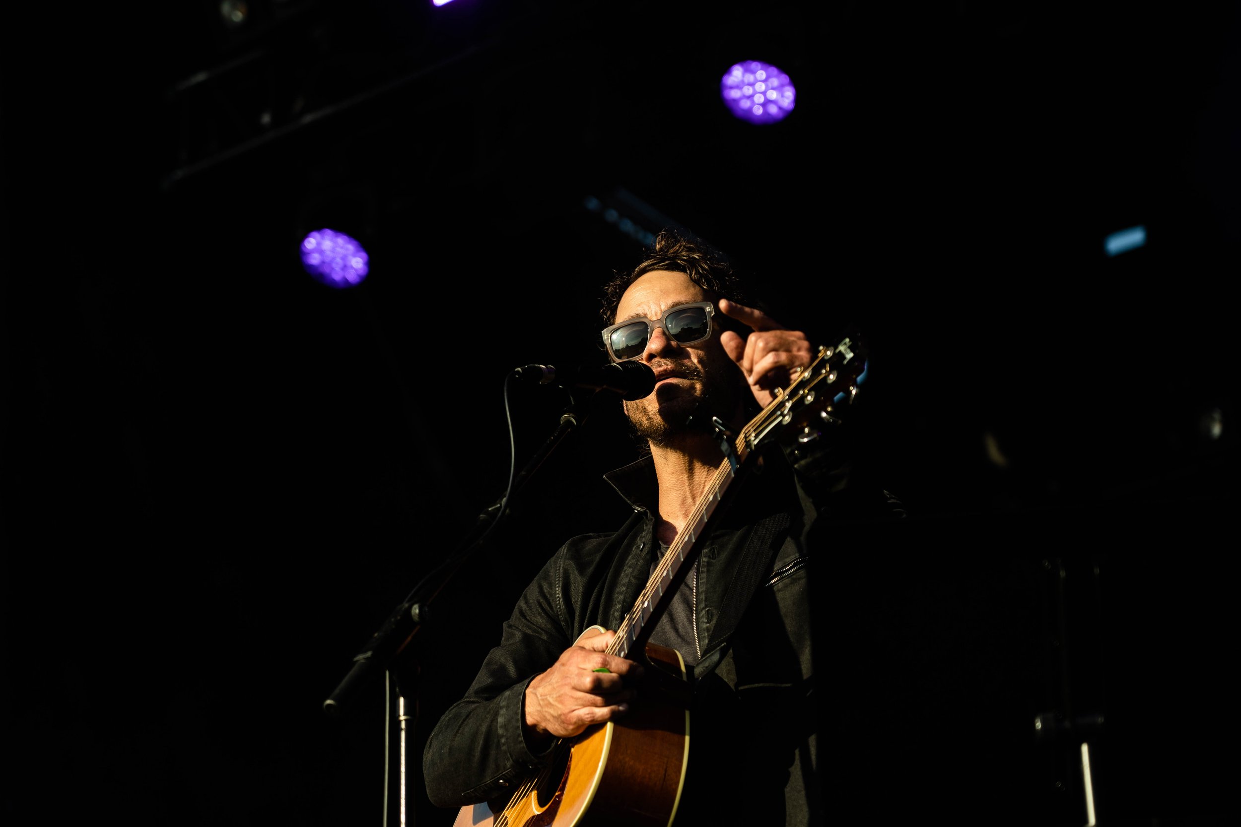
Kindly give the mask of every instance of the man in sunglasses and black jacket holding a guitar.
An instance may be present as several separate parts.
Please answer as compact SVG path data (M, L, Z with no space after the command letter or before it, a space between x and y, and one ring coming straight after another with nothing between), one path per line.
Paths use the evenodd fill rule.
M720 255L668 232L606 289L611 358L640 360L656 377L653 393L624 403L649 454L607 475L634 513L617 532L570 539L526 589L500 645L427 741L436 805L511 796L552 760L557 739L622 722L643 703L640 658L607 650L725 461L702 423L717 417L740 433L817 351L742 295ZM794 439L763 448L652 634L681 655L692 689L679 827L823 821L812 528L839 515L901 512L881 489L851 484L839 440L805 448Z

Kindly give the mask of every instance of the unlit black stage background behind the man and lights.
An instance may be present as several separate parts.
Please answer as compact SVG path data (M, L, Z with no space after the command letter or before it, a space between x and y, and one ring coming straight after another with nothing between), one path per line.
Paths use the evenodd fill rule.
M671 224L758 274L788 325L870 341L861 433L912 517L844 532L817 567L835 811L1083 823L1081 739L1033 730L1064 708L1069 651L1073 708L1108 719L1101 821L1225 817L1224 4L9 20L12 823L379 823L382 683L344 722L323 699L555 429L558 397L515 392L510 450L505 374L601 362L598 286L643 253L620 227ZM797 86L778 124L720 103L751 58ZM1104 254L1137 224L1144 247ZM302 270L320 227L365 244L360 286ZM418 823L452 821L424 801L421 743L515 595L624 515L599 475L633 449L614 400L587 407L396 667L419 698Z

